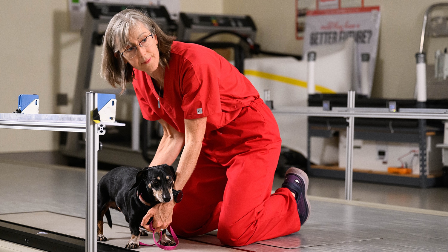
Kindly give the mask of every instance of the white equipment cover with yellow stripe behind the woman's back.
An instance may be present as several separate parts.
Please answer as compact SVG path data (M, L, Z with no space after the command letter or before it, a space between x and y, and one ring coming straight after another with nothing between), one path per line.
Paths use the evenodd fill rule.
M350 89L353 65L353 39L344 43L315 47L315 86L317 93L347 93ZM263 98L270 90L275 108L307 106L307 61L293 57L250 58L244 61L245 75ZM276 114L282 144L307 156L306 116ZM313 137L311 162L331 164L338 161L338 142Z

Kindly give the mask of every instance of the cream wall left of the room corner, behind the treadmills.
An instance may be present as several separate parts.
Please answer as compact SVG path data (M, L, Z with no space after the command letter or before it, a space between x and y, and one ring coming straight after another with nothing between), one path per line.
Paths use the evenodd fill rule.
M180 0L181 11L222 13L222 0ZM69 30L67 0L0 0L0 113L17 108L19 94L39 94L41 114L71 113L81 47L79 31ZM96 47L91 86L108 88L99 77ZM69 106L56 106L56 94ZM58 149L58 133L0 129L0 153Z

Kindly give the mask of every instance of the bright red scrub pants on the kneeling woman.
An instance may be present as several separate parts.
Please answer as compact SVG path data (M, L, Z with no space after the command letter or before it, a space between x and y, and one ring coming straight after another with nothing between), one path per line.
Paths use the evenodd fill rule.
M221 243L244 246L299 231L289 189L271 195L280 145L276 120L262 99L207 132L184 197L174 207L176 234L191 237L218 229Z

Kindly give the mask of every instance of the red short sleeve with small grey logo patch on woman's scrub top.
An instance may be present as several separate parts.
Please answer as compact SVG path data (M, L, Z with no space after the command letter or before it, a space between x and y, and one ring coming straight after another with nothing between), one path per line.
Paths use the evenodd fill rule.
M187 64L182 79L182 110L185 119L221 112L220 72L213 64Z

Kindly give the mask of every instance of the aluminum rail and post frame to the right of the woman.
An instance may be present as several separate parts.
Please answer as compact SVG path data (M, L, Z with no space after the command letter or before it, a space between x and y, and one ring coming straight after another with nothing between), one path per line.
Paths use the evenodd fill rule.
M375 111L376 110L376 111ZM448 109L414 108L400 109L398 112L384 112L383 108L354 107L354 91L348 93L347 108L333 107L324 111L323 107L288 107L272 110L274 114L291 114L323 117L345 117L347 120L347 167L345 169L345 199L352 200L353 187L353 139L354 118L401 118L422 120L448 120ZM308 133L309 134L309 133ZM310 144L308 140L308 145ZM420 167L421 184L426 184L426 167Z

